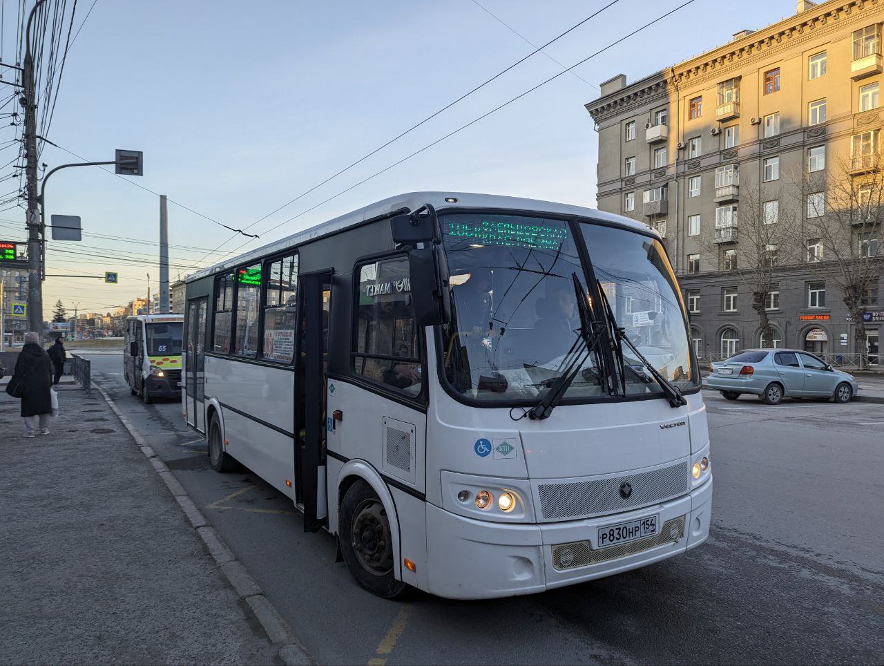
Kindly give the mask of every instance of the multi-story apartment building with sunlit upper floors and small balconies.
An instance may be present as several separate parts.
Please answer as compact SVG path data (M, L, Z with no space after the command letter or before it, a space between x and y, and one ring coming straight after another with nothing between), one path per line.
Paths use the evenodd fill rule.
M829 357L865 352L877 363L881 264L863 295L865 341L854 341L831 253L823 256L823 243L803 231L826 210L826 195L808 191L811 177L831 185L877 169L864 156L880 151L884 138L884 3L801 0L797 10L642 80L628 84L618 75L603 83L586 104L598 129L598 208L665 237L697 356L761 342L740 262L750 251L745 226L754 211L755 219L789 227L781 234L789 248L785 240L766 246L774 264L765 308L773 344ZM866 167L873 160L873 168L857 170L857 159ZM874 255L879 229L866 231L850 242L865 242L860 249Z

